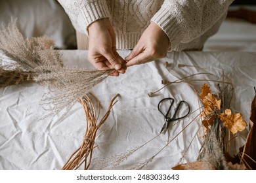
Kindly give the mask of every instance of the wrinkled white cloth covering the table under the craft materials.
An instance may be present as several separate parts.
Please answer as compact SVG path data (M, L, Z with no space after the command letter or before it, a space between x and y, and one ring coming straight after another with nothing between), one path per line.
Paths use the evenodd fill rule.
M129 51L119 54L125 57ZM86 59L87 51L65 50L62 57L68 67L93 68ZM169 52L166 58L129 67L124 75L106 78L90 91L100 101L100 117L112 97L117 93L119 97L110 116L98 129L90 169L101 169L102 159L133 150L156 137L165 122L158 111L161 99L173 97L175 104L187 101L191 112L199 108L194 88L200 92L204 81L193 82L194 88L187 83L171 84L149 97L149 92L163 87L162 79L175 81L196 73L212 73L193 78L220 80L224 73L234 86L232 110L241 112L248 121L255 95L255 58L252 52ZM166 61L169 71L165 68ZM195 67L178 67L178 64ZM207 83L215 92L216 83ZM86 126L81 105L75 103L70 110L64 109L53 118L42 120L45 111L39 103L45 92L47 88L35 83L0 88L0 169L61 169L83 141ZM183 110L181 113L185 112ZM169 141L144 169L171 169L177 163L195 161L203 142L198 114L199 110L171 124L165 135L139 148L116 169L136 167L156 155ZM246 133L247 130L238 135L237 147L244 142L239 139ZM111 169L111 166L104 169Z

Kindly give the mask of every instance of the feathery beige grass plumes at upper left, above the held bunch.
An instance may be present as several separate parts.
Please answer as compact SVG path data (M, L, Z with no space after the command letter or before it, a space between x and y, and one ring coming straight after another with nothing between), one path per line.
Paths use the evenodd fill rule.
M54 50L54 42L48 37L25 39L15 22L0 31L0 49L15 65L24 71L44 73L47 66L62 67L59 51Z

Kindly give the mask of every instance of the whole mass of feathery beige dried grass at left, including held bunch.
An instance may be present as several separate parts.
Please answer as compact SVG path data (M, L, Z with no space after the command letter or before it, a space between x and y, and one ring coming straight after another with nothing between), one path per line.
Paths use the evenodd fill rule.
M59 50L54 50L51 39L25 39L15 22L0 30L0 50L4 54L0 57L0 86L26 81L48 86L49 92L45 93L41 103L43 108L49 110L46 116L74 105L108 76L106 71L64 67L61 54Z

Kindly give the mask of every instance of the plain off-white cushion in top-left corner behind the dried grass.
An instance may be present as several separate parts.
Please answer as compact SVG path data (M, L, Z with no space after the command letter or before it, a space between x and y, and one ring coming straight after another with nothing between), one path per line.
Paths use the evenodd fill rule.
M75 29L57 1L1 0L0 22L7 25L15 18L25 37L47 35L57 48L75 48Z

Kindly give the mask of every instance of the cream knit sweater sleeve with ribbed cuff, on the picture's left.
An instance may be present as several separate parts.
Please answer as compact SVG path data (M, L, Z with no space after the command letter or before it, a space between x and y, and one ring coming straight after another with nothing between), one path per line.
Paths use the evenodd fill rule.
M75 29L88 35L87 27L100 18L109 18L106 0L58 0Z

